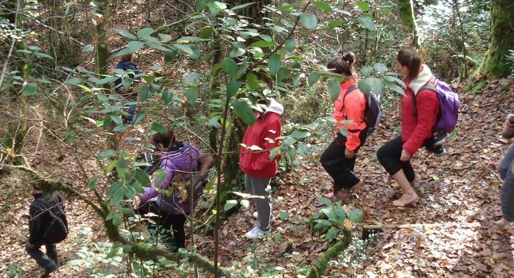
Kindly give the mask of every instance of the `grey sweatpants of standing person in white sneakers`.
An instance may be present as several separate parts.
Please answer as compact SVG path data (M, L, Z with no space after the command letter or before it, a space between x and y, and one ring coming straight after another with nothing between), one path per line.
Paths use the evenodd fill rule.
M269 203L266 187L271 178L254 178L245 174L246 192L264 198L252 198L257 209L257 227L263 231L269 230L269 219L271 218L271 204Z

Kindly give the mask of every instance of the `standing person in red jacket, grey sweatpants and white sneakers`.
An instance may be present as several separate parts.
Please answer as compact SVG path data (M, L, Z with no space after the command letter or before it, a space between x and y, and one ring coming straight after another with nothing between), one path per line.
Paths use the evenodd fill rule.
M253 198L257 209L257 223L245 234L250 239L261 238L269 233L272 219L271 204L266 188L272 177L277 174L278 155L270 159L270 150L279 146L280 115L284 112L282 104L270 98L264 112L254 110L255 123L246 128L239 155L239 167L245 173L245 188L248 194L262 196Z

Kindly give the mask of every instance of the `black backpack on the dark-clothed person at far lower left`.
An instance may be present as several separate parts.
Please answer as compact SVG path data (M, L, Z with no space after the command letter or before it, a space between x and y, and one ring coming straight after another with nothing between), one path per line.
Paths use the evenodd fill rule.
M45 209L47 219L45 221L44 230L46 231L43 238L49 243L60 243L68 237L68 220L64 213L63 199L59 194L56 194L58 205Z

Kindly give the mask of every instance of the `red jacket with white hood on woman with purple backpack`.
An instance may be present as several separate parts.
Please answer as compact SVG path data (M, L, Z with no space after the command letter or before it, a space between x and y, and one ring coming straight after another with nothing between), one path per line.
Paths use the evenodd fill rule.
M405 97L401 97L401 141L403 149L411 154L415 154L423 145L425 139L430 138L432 128L437 121L439 114L439 101L437 94L430 89L420 89L416 94L417 117L414 116L414 88L420 88L427 82L434 83L435 77L430 69L423 65L423 70L414 79L417 86L410 84L408 78L404 79L406 88ZM414 83L413 82L413 83Z

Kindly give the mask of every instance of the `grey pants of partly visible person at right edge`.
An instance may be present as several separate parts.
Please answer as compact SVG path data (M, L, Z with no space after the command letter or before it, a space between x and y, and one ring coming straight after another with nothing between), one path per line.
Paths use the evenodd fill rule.
M514 164L514 144L510 145L505 157L500 162L500 177L502 186L502 214L507 221L514 221L514 175L510 173Z

